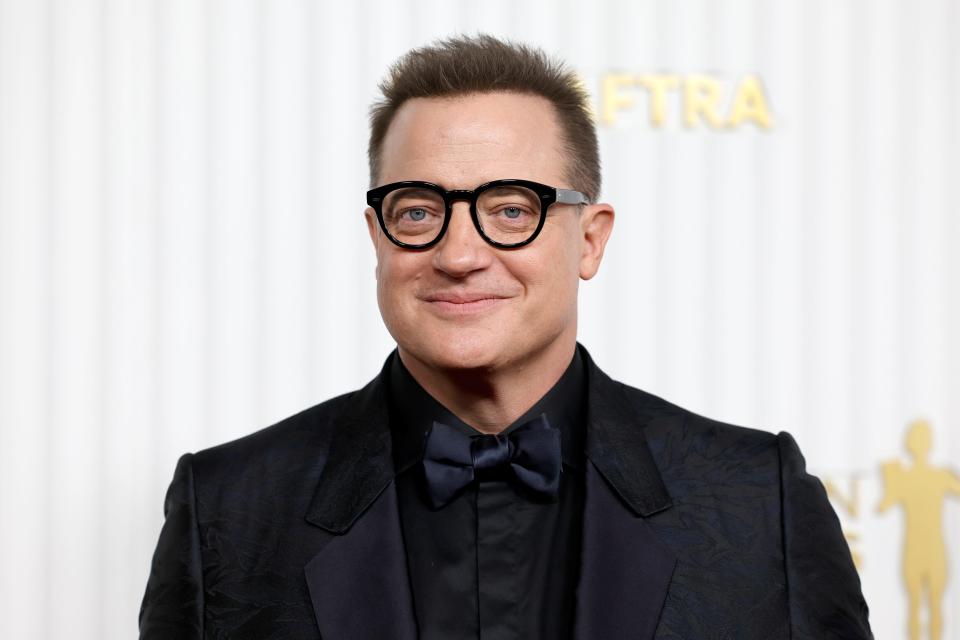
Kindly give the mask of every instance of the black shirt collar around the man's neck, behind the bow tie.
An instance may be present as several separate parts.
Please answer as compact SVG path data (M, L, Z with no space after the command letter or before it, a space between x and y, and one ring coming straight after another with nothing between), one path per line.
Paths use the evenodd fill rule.
M581 468L586 434L585 383L585 364L578 345L573 359L556 384L501 433L508 434L545 413L550 424L560 430L564 464L574 469ZM396 473L405 471L422 459L425 438L434 421L448 424L468 436L482 435L482 432L458 418L421 387L396 351L392 354L388 386Z

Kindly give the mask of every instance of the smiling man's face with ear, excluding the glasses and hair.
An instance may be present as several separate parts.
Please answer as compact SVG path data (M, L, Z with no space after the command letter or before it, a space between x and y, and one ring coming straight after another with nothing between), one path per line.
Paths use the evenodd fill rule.
M566 158L554 108L543 98L418 98L406 102L390 125L379 184L425 180L474 189L521 178L576 189L580 185L564 177ZM578 215L577 207L558 204L548 211L532 243L503 250L480 237L469 202L458 201L440 242L411 251L390 242L376 214L366 210L380 312L405 360L493 371L572 345L578 281L596 272L613 212L594 205ZM598 218L605 226L599 247Z

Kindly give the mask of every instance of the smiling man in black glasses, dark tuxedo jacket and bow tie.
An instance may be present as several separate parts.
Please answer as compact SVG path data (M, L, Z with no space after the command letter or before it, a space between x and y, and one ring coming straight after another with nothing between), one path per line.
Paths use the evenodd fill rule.
M575 76L454 38L381 88L366 222L397 350L181 458L141 637L871 637L789 435L614 382L577 344L614 211Z

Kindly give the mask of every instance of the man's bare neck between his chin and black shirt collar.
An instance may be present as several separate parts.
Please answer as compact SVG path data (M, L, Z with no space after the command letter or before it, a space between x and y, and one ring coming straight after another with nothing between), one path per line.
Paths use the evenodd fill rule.
M543 350L502 368L438 369L398 348L410 375L458 418L483 433L500 433L563 376L576 336L558 338Z

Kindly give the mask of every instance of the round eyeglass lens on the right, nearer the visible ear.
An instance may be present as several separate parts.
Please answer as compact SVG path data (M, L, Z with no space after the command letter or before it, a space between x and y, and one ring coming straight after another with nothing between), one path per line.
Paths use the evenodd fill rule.
M477 199L477 218L484 235L501 244L528 240L540 224L540 214L540 196L526 187L492 187Z

